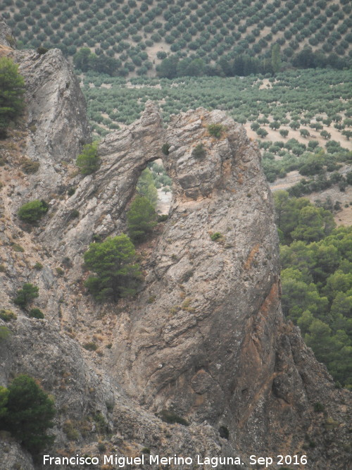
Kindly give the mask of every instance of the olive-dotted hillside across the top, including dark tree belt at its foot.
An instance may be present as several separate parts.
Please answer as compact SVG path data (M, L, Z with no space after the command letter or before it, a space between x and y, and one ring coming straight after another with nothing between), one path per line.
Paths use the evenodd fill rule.
M3 5L23 46L58 47L68 56L86 47L89 61L79 57L76 65L111 75L156 70L170 77L248 75L290 63L342 68L351 60L348 0L4 0ZM281 57L278 49L272 56L274 44ZM310 52L302 55L304 47ZM174 60L163 64L168 56ZM189 60L180 60L176 70L184 58Z

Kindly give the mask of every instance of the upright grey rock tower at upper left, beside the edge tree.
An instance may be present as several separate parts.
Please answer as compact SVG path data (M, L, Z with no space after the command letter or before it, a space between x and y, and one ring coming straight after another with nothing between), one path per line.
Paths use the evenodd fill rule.
M51 165L74 160L89 142L90 130L73 70L59 49L42 55L16 51L15 61L20 61L26 83L28 156L49 157Z

